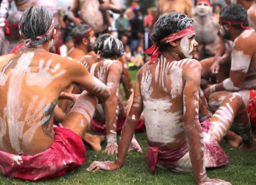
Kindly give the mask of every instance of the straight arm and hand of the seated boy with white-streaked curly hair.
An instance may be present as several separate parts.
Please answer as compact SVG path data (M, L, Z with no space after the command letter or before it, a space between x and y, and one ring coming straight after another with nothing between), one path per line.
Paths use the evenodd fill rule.
M106 101L106 153L113 155L117 152L117 119L118 119L118 95L119 83L122 73L121 62L115 62L109 67L107 76L107 87L110 90L110 97Z

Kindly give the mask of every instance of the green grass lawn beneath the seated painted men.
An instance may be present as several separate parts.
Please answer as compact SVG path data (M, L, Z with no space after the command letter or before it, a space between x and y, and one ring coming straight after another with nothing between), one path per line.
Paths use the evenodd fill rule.
M133 82L137 71L131 71ZM136 138L143 148L143 153L129 152L124 166L118 171L99 171L97 173L86 171L86 168L94 161L114 160L102 152L93 152L86 146L86 162L83 166L76 168L60 178L50 181L21 181L0 175L0 185L119 185L119 184L149 184L149 185L193 185L195 184L193 174L178 174L171 171L156 169L156 174L150 173L145 161L146 155L146 133L137 133ZM103 143L103 148L106 142ZM225 142L221 143L225 153L230 159L230 165L208 169L207 174L211 178L220 178L229 181L232 185L256 185L256 151L240 152L232 149Z

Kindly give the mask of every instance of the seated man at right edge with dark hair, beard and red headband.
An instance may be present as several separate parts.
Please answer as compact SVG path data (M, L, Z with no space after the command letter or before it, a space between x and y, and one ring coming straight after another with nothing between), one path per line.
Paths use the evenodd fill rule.
M233 41L230 75L223 82L207 88L209 106L216 110L233 92L242 95L252 127L256 126L256 32L248 27L245 9L240 4L224 7L220 14L221 34Z

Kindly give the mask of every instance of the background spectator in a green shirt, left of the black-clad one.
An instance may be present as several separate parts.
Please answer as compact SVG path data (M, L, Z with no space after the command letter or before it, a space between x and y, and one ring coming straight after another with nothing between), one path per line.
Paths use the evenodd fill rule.
M131 23L127 18L124 18L124 12L125 10L123 9L120 12L120 17L115 20L115 28L117 29L118 39L120 40L123 35L129 36L131 31Z

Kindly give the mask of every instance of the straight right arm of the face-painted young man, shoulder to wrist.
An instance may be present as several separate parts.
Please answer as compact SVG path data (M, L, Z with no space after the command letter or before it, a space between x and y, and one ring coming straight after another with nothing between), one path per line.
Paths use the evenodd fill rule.
M203 133L198 116L201 65L198 61L193 62L196 63L195 67L186 70L183 91L184 129L195 180L200 183L207 178L204 166Z

